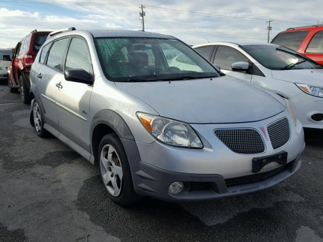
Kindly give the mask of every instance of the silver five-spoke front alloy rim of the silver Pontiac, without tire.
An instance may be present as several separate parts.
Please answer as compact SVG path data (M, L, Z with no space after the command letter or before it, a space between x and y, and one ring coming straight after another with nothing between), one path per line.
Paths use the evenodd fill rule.
M118 197L122 188L122 166L119 155L112 145L104 145L100 155L100 169L107 191Z

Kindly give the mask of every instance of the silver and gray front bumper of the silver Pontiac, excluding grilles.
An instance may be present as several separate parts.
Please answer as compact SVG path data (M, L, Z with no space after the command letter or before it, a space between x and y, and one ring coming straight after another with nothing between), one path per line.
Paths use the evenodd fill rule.
M221 128L262 128L268 134L267 125L282 117L289 120L290 140L283 147L274 149L270 139L263 136L265 151L261 154L235 153L212 132ZM194 201L251 193L280 183L301 165L300 155L305 147L303 129L299 121L296 126L293 125L286 111L254 123L191 126L202 140L202 149L172 147L157 141L145 144L122 139L134 189L138 194L168 201ZM272 162L260 172L252 172L252 158L274 155L283 150L288 153L285 167ZM178 195L171 195L168 191L174 181L184 183L184 191Z

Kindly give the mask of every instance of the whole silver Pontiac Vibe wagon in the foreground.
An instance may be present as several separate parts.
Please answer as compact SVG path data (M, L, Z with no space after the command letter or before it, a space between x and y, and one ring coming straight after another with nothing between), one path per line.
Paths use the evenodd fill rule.
M94 165L113 201L216 199L295 173L304 134L287 99L142 31L52 32L30 73L30 122Z

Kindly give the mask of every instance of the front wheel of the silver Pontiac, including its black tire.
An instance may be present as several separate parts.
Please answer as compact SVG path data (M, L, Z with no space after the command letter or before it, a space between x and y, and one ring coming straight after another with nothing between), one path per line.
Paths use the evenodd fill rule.
M115 203L125 206L142 198L134 190L128 158L116 134L102 138L98 162L104 188Z

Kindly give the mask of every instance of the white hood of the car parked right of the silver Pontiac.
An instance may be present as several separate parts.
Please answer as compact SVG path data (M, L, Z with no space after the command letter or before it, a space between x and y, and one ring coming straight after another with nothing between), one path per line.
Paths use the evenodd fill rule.
M274 79L323 87L323 69L272 71Z

